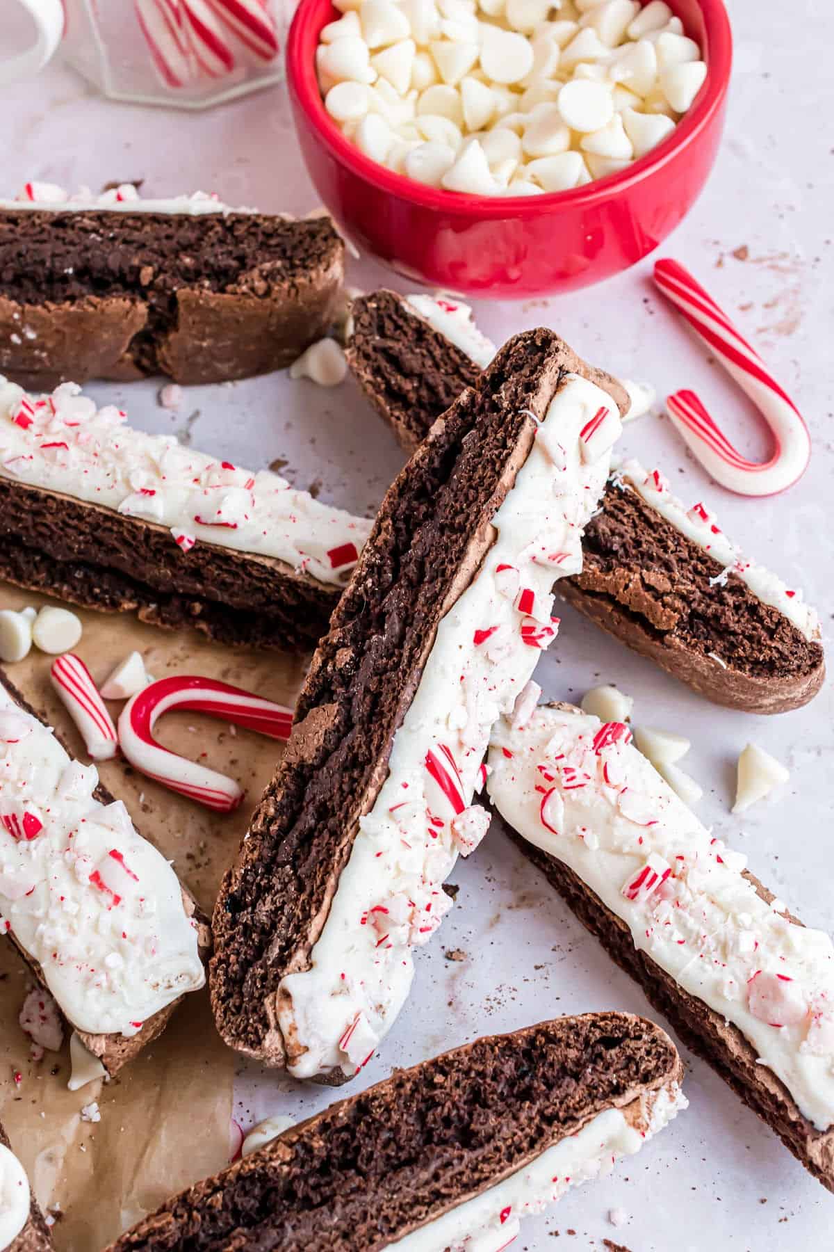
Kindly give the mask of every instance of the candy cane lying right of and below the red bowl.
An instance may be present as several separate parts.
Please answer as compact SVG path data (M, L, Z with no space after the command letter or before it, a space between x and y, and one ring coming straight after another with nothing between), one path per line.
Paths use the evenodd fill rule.
M729 491L739 496L785 491L803 476L810 457L810 436L799 409L755 348L683 265L670 258L656 262L654 280L750 397L770 428L775 447L769 461L748 461L691 391L675 392L666 399L676 429L713 478Z

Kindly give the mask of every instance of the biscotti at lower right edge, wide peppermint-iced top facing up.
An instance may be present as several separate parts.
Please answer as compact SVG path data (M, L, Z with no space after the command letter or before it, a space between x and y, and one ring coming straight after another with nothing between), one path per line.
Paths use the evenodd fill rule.
M834 1191L834 945L713 839L621 722L500 722L495 809L680 1037Z

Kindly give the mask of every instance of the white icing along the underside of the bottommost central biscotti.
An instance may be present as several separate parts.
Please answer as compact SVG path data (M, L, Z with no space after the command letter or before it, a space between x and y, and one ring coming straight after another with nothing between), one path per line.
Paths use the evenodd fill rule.
M515 1238L519 1219L541 1213L578 1183L604 1178L619 1157L639 1152L688 1101L674 1084L649 1097L650 1111L631 1126L618 1108L598 1113L574 1136L548 1148L531 1164L468 1199L385 1252L499 1252Z

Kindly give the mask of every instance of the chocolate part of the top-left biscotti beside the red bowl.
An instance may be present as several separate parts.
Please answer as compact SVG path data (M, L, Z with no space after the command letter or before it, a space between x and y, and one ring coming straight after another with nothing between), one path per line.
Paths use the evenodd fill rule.
M246 378L326 333L344 278L329 218L0 210L0 374Z

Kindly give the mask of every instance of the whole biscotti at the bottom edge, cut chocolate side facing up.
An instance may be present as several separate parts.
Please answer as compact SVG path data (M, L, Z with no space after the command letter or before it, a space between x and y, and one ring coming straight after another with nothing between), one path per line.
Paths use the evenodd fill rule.
M660 1131L681 1080L668 1035L625 1013L476 1039L285 1131L109 1252L500 1248Z

